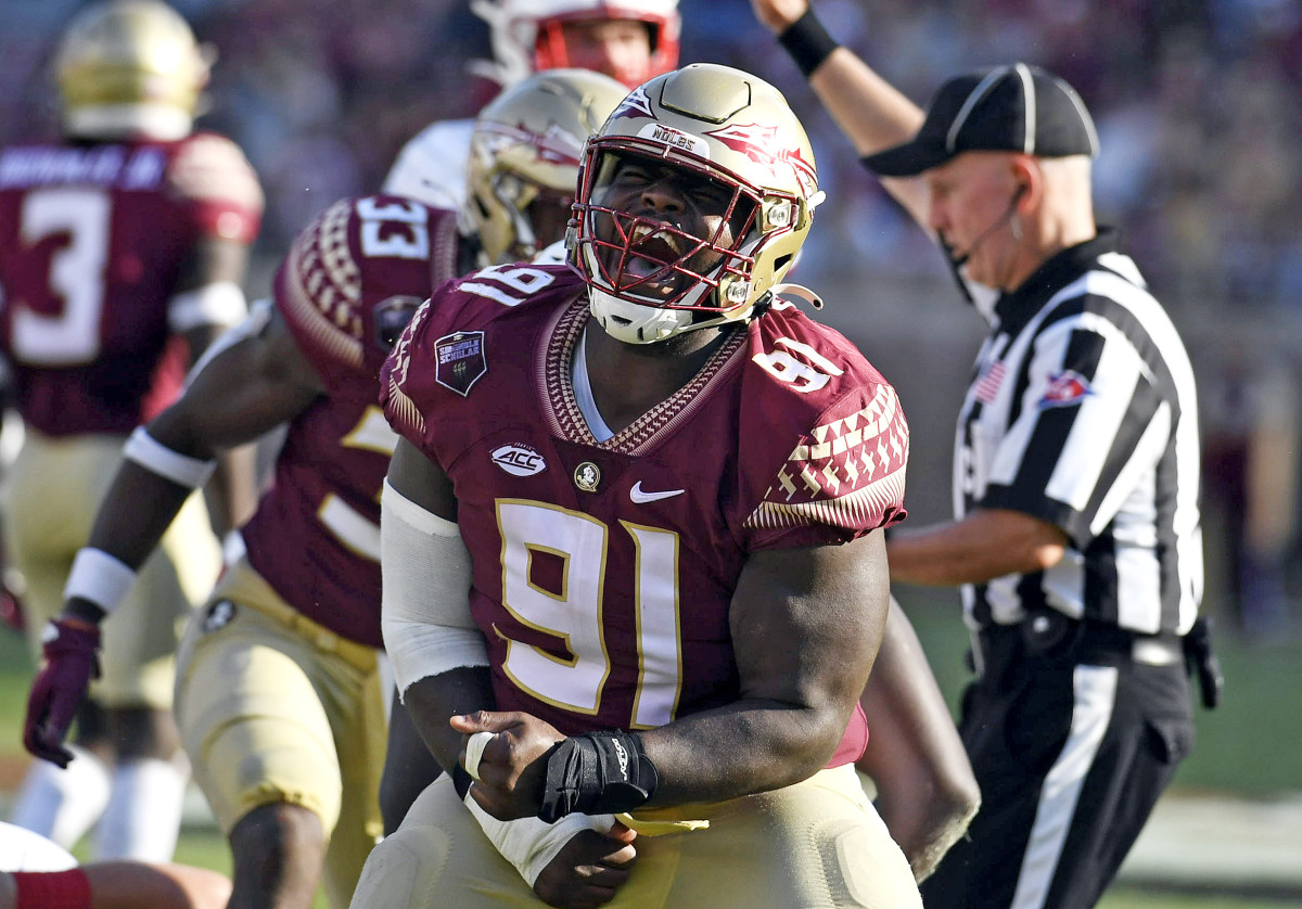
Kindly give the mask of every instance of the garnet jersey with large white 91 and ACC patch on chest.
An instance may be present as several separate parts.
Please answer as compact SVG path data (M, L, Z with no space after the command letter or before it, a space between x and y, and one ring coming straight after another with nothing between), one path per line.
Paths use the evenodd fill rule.
M892 387L788 305L598 441L570 371L587 323L568 268L488 268L440 288L381 378L389 422L453 482L497 708L568 734L736 699L747 555L904 517L909 447ZM865 742L855 711L835 763Z

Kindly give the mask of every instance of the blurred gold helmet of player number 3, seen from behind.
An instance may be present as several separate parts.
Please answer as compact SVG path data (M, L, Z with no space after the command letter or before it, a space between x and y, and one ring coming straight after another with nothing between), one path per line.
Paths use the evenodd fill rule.
M212 56L161 0L86 8L55 57L65 132L108 139L187 135Z

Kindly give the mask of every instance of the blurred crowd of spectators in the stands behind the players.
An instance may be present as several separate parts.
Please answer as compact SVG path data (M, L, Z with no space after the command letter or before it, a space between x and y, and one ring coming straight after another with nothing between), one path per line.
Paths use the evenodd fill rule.
M488 35L467 0L172 3L219 52L202 124L246 150L267 191L256 246L263 281L314 214L375 191L408 138L432 120L471 116L495 92L475 74L475 61L490 56ZM79 5L0 0L0 145L55 130L49 55ZM1207 434L1253 444L1277 410L1269 389L1280 375L1292 387L1302 374L1302 352L1280 328L1302 324L1302 4L818 0L818 9L836 36L919 103L947 76L1014 59L1075 85L1101 141L1099 219L1122 229L1193 335ZM756 72L810 128L828 202L802 273L818 273L819 287L863 287L868 275L935 296L947 280L940 257L858 165L749 1L682 0L681 10L684 63ZM1236 348L1250 354L1233 357L1220 333L1241 324L1256 333ZM1293 451L1297 438L1282 444ZM1255 461L1236 462L1246 475ZM1293 473L1285 479L1284 488L1247 488L1262 487L1256 495L1293 516L1297 484ZM1294 540L1289 524L1266 534L1272 564L1288 552L1280 534ZM1240 533L1245 546L1262 537L1251 526Z

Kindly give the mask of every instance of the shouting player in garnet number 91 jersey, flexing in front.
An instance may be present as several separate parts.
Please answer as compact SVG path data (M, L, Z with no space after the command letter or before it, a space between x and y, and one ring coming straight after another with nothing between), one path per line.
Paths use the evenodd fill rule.
M853 767L909 432L784 298L820 199L783 96L687 66L589 141L573 270L417 311L383 629L453 774L354 908L921 906Z

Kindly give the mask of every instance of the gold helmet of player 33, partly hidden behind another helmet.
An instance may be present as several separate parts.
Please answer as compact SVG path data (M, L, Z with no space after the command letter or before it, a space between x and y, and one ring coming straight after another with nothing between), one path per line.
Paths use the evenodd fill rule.
M622 85L552 69L508 89L475 117L465 221L483 264L531 259L565 236L583 142L624 100Z

